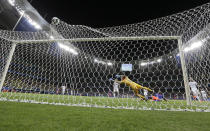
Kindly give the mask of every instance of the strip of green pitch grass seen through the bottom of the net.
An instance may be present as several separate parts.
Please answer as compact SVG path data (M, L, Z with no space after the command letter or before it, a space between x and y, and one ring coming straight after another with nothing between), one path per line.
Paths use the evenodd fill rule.
M142 101L139 98L113 98L113 97L91 97L91 96L71 96L71 95L49 95L33 93L0 93L0 98L8 100L26 100L48 103L80 104L90 106L107 106L116 108L151 108L165 110L206 110L210 106L209 102L193 102L193 106L187 106L185 100L168 100L167 102Z

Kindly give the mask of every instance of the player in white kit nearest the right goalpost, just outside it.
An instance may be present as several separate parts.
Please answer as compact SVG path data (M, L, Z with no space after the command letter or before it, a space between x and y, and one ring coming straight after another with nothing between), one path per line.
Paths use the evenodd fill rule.
M196 99L198 101L201 101L200 96L199 96L200 95L200 92L199 92L199 90L197 88L197 85L198 85L198 83L195 82L192 77L190 77L189 86L191 88L192 94L193 94L193 96L196 97Z

